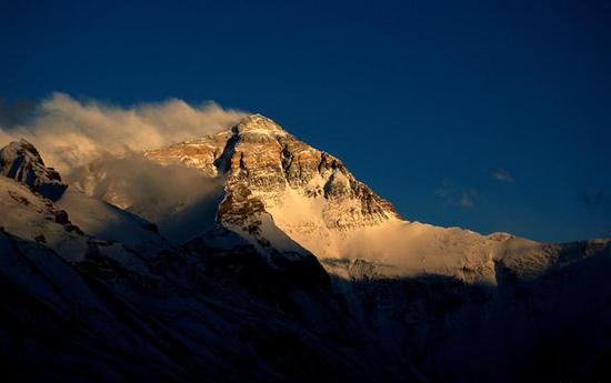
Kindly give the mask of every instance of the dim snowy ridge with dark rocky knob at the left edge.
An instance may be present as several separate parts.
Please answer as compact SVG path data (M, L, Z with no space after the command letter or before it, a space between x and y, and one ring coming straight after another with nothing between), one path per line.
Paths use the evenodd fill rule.
M147 256L170 248L146 220L72 188L67 190L27 141L12 142L0 154L9 168L6 177L0 175L0 226L4 231L44 244L70 262L103 253L138 270L142 268L130 251Z

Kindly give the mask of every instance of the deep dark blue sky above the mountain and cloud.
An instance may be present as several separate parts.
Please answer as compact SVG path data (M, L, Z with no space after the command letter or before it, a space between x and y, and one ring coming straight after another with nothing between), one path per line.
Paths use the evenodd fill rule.
M611 236L609 0L126 2L0 0L0 97L214 100L407 219Z

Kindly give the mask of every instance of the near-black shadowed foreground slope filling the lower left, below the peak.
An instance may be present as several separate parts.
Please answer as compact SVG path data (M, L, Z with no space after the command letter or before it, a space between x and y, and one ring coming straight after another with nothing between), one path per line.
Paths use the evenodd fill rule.
M270 248L266 262L222 230L177 249L71 187L57 202L30 188L0 175L0 367L10 381L355 381L368 370L354 362L362 350L323 335L345 331L312 255L273 259Z

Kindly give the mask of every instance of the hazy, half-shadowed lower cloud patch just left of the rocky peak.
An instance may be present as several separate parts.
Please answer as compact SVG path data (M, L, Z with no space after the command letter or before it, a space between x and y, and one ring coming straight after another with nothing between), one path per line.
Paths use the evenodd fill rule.
M70 188L144 218L176 244L216 224L222 179L141 155L109 157L67 175Z

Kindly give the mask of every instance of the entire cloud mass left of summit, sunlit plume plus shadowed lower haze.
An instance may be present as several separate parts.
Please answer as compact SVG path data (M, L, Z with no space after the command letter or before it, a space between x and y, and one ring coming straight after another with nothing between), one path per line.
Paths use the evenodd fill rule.
M70 188L187 241L214 224L222 180L180 164L161 165L141 152L219 132L244 115L213 102L193 107L171 99L123 108L54 93L33 105L0 102L0 147L27 139Z

